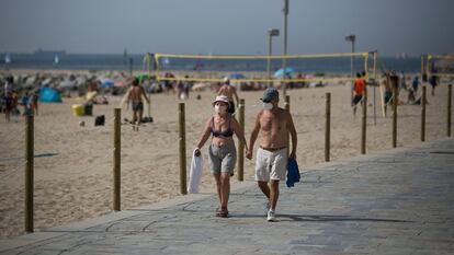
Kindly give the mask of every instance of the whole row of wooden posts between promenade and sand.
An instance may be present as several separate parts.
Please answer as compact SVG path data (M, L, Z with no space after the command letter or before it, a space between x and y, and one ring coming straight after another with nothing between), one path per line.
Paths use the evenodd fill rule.
M397 94L395 88L395 94ZM425 141L425 86L422 86L421 100L421 141ZM285 108L290 111L290 96L285 97ZM447 93L447 137L451 137L451 108L452 108L452 85L449 85ZM393 104L393 148L397 147L397 98ZM113 131L113 210L121 210L121 108L114 109ZM366 117L367 96L363 100L361 128L361 153L366 153ZM245 100L241 98L238 105L238 121L245 129ZM33 232L33 196L34 196L34 119L26 116L25 134L25 232ZM330 161L330 130L331 130L331 94L326 94L326 131L325 131L325 161ZM185 109L184 103L179 104L179 141L180 141L180 192L186 194L186 135L185 135ZM245 151L238 147L238 181L243 181Z

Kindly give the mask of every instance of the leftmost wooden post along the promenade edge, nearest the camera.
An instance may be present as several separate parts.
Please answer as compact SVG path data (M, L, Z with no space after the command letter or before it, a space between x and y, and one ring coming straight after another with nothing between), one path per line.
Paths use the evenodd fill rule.
M34 186L34 119L25 117L25 232L33 232L33 186Z

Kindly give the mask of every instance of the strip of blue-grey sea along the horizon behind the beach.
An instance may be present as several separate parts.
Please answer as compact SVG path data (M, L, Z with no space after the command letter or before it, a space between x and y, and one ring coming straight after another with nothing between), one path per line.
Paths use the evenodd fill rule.
M67 54L65 51L35 51L32 54L0 54L4 59L0 68L3 70L36 69L36 70L145 70L144 55L124 54ZM182 59L160 58L159 69L163 71L266 71L266 60L253 59ZM152 68L151 63L151 68ZM281 59L271 61L271 70L275 71L282 67ZM350 73L351 58L308 58L288 59L286 67L293 68L295 72L303 73ZM373 67L372 59L368 60L370 70ZM398 72L418 73L421 68L419 57L379 57L377 70L396 70ZM362 57L354 58L354 70L364 70Z

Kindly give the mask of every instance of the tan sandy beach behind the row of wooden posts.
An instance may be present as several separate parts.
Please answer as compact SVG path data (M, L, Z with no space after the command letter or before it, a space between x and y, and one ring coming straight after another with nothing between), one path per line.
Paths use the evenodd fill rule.
M360 154L361 107L356 116L350 106L350 86L331 85L291 90L291 112L298 134L297 161L302 172L325 161L325 96L331 93L331 160ZM195 95L200 94L201 100ZM435 96L428 88L427 140L446 137L446 83ZM249 141L256 114L261 109L262 92L239 92L246 100L246 136ZM186 162L200 138L203 124L212 116L211 91L193 92L185 101L177 95L152 94L155 123L139 132L122 125L122 209L138 207L179 196L178 103L186 106ZM400 100L406 102L401 91ZM35 117L35 229L60 225L112 211L113 109L121 96L109 97L109 105L94 105L93 115L105 115L105 126L94 127L94 117L76 117L71 105L41 104ZM368 90L367 153L391 150L391 112L385 118L376 90L374 124L373 89ZM280 103L283 106L283 102ZM399 105L398 147L420 143L419 105ZM122 119L132 112L122 111ZM84 127L79 123L86 121ZM0 239L23 234L24 230L24 119L0 119ZM238 142L237 142L238 143ZM208 171L207 146L203 148L202 193L215 193ZM189 174L188 174L189 175ZM253 161L245 160L245 178L253 179ZM232 185L238 184L237 175ZM213 205L215 208L216 205ZM234 212L235 213L235 212Z

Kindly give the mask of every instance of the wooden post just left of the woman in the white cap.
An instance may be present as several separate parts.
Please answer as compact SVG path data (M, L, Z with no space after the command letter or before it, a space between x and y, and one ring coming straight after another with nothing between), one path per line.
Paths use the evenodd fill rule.
M188 194L186 187L186 127L184 103L179 104L179 140L180 140L180 192L182 195Z

